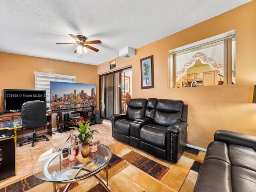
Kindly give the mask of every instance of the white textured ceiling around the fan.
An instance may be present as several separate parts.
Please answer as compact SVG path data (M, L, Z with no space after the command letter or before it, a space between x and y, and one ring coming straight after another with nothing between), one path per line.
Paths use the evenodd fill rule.
M0 0L0 52L98 65L250 0ZM214 26L213 26L214 27ZM74 53L69 35L101 40Z

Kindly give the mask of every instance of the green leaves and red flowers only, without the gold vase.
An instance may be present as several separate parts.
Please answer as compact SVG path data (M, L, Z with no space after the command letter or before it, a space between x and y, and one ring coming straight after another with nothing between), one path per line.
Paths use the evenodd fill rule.
M84 118L83 117L79 117L79 120L78 119L76 119L76 121L75 122L73 122L74 124L76 124L76 125L78 125L79 127L70 127L71 129L76 129L78 132L79 132L79 134L74 134L74 136L75 136L75 142L76 142L76 140L77 140L77 138L78 139L80 139L80 141L81 142L86 142L86 140L87 140L87 138L88 137L91 137L91 138L93 138L92 137L92 135L94 135L94 134L96 134L96 133L98 133L99 134L99 132L97 131L97 130L92 130L92 129L90 129L88 126L90 125L90 123L89 123L89 120L87 121L87 122L85 122L84 121ZM68 141L70 139L70 136L68 136L68 139L66 140L66 142ZM65 143L66 143L65 142Z

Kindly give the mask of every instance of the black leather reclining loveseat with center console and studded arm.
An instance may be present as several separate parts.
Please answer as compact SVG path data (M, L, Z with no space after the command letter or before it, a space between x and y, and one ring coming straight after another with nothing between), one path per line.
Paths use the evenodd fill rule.
M186 148L187 110L181 100L132 99L126 114L111 115L112 136L176 163Z

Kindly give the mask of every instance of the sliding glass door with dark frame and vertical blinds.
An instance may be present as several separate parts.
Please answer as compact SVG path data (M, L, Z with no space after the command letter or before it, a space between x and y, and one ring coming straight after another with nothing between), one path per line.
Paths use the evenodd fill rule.
M131 71L131 68L129 69ZM131 88L126 86L126 89L124 89L124 74L124 70L118 70L108 74L100 75L101 118L110 119L112 114L126 112L126 103L124 103L125 93L127 90L131 91ZM126 79L128 78L126 77ZM129 81L127 85L129 84L131 84L131 81Z

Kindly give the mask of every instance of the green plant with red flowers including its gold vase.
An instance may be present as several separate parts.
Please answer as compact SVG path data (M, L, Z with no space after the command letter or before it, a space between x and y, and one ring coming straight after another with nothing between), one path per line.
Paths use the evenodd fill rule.
M76 129L79 134L75 134L75 142L77 138L82 142L82 148L81 148L81 154L84 158L89 156L90 147L88 143L88 138L93 138L92 135L99 133L97 130L92 130L88 126L90 125L89 120L87 122L84 121L83 117L79 117L79 120L76 119L74 124L78 125L79 127L70 127L71 129ZM68 139L66 142L70 139L70 136L68 136Z

